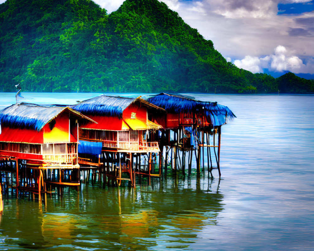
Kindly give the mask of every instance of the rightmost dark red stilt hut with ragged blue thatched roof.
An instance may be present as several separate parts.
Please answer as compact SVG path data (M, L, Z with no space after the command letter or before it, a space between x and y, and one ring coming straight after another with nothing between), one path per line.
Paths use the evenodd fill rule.
M166 114L149 114L150 120L165 128L163 133L155 135L155 140L160 142L161 150L163 150L162 148L164 146L166 147L166 161L168 159L168 151L171 150L171 159L173 159L173 162L171 162L171 165L173 164L172 167L176 169L177 164L179 164L184 172L185 152L188 151L190 171L192 150L194 149L197 169L199 171L201 164L201 150L204 166L205 147L207 148L208 155L208 170L211 173L213 165L210 150L213 148L220 176L219 157L221 126L236 117L232 111L227 106L217 104L217 102L203 102L179 94L160 93L154 96L149 96L146 100L167 111ZM217 134L218 141L215 137ZM217 153L216 147L218 148ZM182 151L182 158L180 157L178 150ZM165 162L165 164L167 163Z

